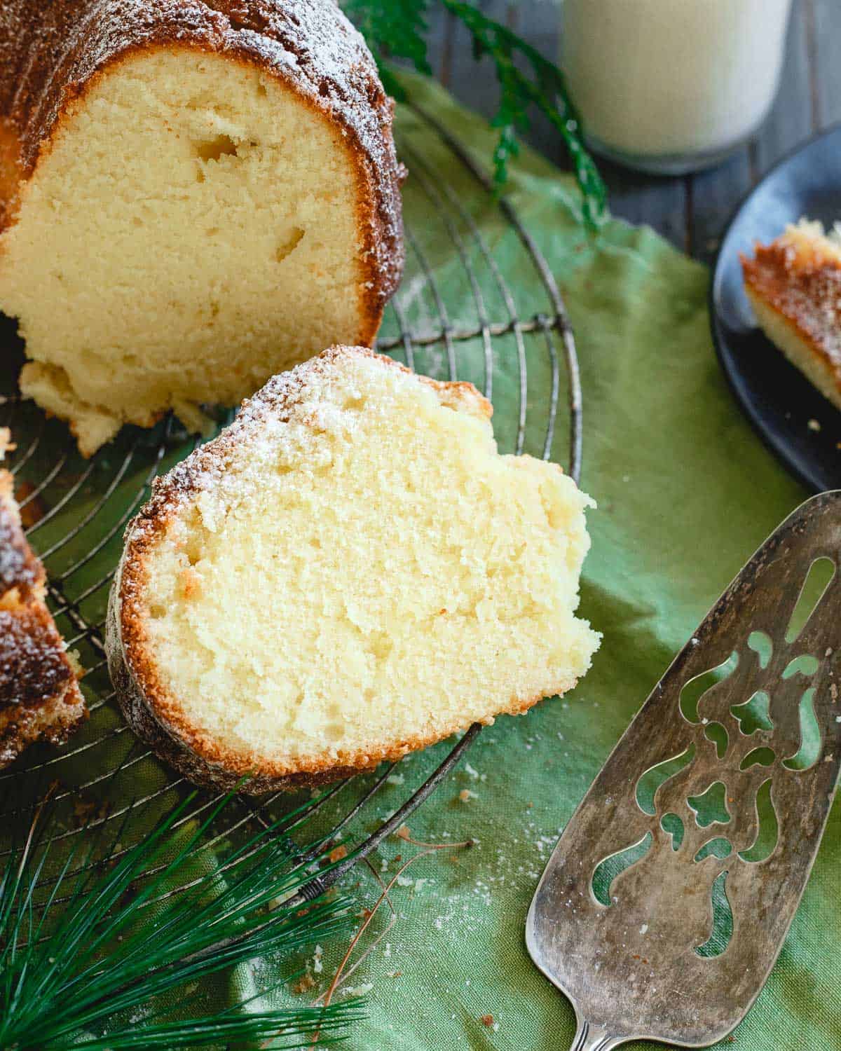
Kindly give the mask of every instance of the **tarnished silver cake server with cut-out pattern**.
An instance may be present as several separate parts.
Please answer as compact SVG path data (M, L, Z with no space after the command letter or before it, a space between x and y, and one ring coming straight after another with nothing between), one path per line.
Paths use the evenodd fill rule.
M747 562L565 829L526 941L575 1007L573 1051L703 1047L762 988L841 767L839 566L841 491Z

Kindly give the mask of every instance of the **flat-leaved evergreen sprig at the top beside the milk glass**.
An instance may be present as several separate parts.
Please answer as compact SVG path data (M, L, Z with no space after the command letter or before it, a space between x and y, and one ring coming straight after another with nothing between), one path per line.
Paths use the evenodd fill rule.
M530 127L529 111L534 106L563 140L581 191L584 223L591 229L597 227L606 215L607 190L584 145L581 118L558 66L512 29L464 0L343 0L345 12L377 61L386 89L397 99L404 92L387 60L403 59L420 73L430 73L426 30L433 4L465 26L475 59L487 56L493 62L499 82L499 105L491 122L499 129L493 153L495 186L505 186L509 162L517 156L519 135Z

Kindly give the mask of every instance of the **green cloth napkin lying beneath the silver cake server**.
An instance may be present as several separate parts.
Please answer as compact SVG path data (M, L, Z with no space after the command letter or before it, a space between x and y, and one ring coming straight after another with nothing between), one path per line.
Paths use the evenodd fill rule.
M484 121L430 82L412 78L410 96L487 166L494 135ZM398 127L416 159L443 182L461 185L452 156L403 106ZM412 156L405 159L414 171ZM491 224L494 207L476 203L475 188L470 194L465 184L463 202L479 223ZM354 1051L569 1047L573 1012L524 945L543 865L675 652L807 495L763 448L725 387L710 341L703 266L651 229L618 221L586 241L571 180L526 149L512 171L511 200L549 261L575 328L584 393L581 483L598 501L589 518L593 547L580 613L604 638L573 694L484 730L460 769L410 820L418 840L473 837L478 843L424 858L394 887L397 920L348 980L355 988L371 984L370 1017L348 1039ZM407 197L410 225L413 214ZM510 275L509 242L497 234L491 229L488 236ZM460 265L442 253L430 266L451 315L464 312L470 290L458 286ZM534 276L521 281L534 284ZM528 289L517 293L528 296ZM440 362L433 365L446 374ZM475 378L481 382L480 374ZM494 378L495 423L506 448L515 387ZM563 431L563 410L559 426ZM562 458L563 449L559 453ZM418 761L410 760L409 768ZM474 794L467 802L459 798L464 789ZM394 856L405 860L413 850L392 841L374 867L383 866L387 880L399 867ZM841 1047L840 860L836 806L779 962L735 1032L737 1048ZM350 884L360 882L371 905L380 887L364 868ZM384 908L371 931L382 931L387 920ZM363 946L373 940L371 931ZM332 973L341 949L325 949L316 977ZM492 1024L485 1015L493 1015Z

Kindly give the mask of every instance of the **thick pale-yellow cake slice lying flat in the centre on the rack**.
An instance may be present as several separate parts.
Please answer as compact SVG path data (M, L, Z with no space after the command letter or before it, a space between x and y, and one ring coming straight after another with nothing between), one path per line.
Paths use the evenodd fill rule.
M500 455L466 383L336 347L275 376L129 526L108 662L137 733L261 792L395 760L571 689L592 503Z

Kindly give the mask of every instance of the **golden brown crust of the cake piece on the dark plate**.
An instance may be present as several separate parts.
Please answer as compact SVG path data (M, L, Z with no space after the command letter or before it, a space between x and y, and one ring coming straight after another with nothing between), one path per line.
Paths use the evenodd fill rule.
M820 240L780 238L741 256L748 292L782 317L841 390L841 262Z

